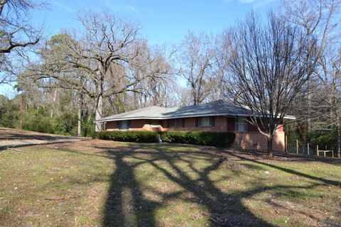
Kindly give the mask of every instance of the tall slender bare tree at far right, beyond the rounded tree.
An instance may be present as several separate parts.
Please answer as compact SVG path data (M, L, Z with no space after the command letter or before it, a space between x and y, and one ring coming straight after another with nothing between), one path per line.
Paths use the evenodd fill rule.
M340 5L340 0L282 0L281 9L279 9L283 20L297 26L305 34L307 47L310 48L311 45L315 45L317 57L320 58L318 67L313 72L313 77L310 77L306 84L307 95L301 101L301 116L298 116L307 119L306 140L309 140L309 133L312 130L311 121L319 116L314 111L316 103L313 94L320 89L318 86L320 83L316 80L321 79L321 72L325 74L324 66L320 63L323 63L328 58L330 45L335 45L337 37L340 36L340 33L337 32L340 30L341 22ZM316 43L312 42L314 39L318 41ZM308 56L305 59L305 64L309 70Z

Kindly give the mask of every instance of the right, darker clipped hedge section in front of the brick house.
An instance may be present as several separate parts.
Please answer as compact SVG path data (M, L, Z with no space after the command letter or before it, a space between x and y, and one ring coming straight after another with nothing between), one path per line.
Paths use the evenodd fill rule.
M227 148L234 143L234 133L209 133L197 131L168 131L161 133L163 142L209 145Z

